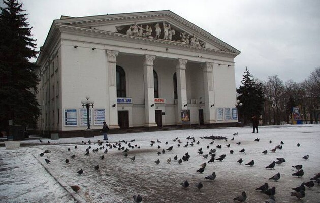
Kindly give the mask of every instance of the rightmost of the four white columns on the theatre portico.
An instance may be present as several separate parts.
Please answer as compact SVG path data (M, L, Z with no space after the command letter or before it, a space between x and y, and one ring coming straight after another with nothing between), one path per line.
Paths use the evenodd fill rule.
M202 64L204 95L205 95L205 123L215 123L215 99L213 88L213 63L205 62Z

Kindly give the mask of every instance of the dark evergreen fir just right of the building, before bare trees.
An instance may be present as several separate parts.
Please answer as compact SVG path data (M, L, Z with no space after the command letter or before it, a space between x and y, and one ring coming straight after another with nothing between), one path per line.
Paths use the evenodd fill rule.
M238 99L243 104L239 107L239 117L243 119L243 124L246 125L252 116L260 116L263 111L265 101L261 82L258 82L250 74L245 67L244 75L242 75L242 85L237 88Z

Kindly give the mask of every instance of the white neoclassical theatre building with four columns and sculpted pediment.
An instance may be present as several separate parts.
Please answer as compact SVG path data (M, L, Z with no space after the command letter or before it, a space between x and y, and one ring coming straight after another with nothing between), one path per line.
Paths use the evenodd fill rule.
M144 29L136 33L136 23L144 29L150 26L151 35ZM155 39L156 23L162 32L159 39ZM163 23L174 29L171 40L163 39ZM191 42L193 36L199 41ZM234 58L239 54L171 11L61 17L54 20L37 60L39 128L60 133L85 130L81 100L86 95L95 101L92 117L93 112L103 116L105 110L105 118L91 119L91 129L101 129L101 119L110 128L123 127L119 111L127 111L125 127L156 127L156 110L161 110L162 126L181 125L181 109L190 110L191 124L202 123L201 111L205 124L236 123ZM125 73L125 97L130 103L117 96L116 66ZM163 99L154 96L153 71L158 98Z

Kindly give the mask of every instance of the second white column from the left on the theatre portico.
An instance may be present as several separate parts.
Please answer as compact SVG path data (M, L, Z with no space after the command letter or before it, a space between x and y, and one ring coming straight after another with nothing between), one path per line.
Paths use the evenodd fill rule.
M145 127L157 127L155 122L154 105L154 78L153 61L155 56L144 55L143 77L144 77L144 109L145 109Z

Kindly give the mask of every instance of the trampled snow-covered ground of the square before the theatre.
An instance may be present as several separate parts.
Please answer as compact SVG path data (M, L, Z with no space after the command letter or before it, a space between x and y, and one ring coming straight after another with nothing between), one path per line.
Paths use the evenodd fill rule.
M59 140L43 139L41 145L39 140L22 141L26 145L18 150L6 150L0 147L0 202L74 202L72 194L77 200L83 202L133 202L133 195L140 194L143 202L233 202L245 191L246 202L264 202L268 196L255 190L265 182L269 187L276 187L276 202L298 202L290 196L291 188L299 186L302 182L307 182L315 173L320 172L320 125L281 125L259 127L259 134L252 134L252 129L244 128L219 128L219 129L196 129L196 130L176 130L157 131L131 134L111 134L109 141L115 144L119 140L130 141L132 145L140 146L140 149L129 149L129 156L124 157L122 150L117 148L109 149L106 143L105 149L93 153L92 149L99 146L97 140L102 140L103 136L90 138L92 141L90 154L84 156L89 138L66 138ZM238 135L233 136L233 133ZM228 141L201 139L203 136L226 136ZM188 136L194 137L194 146L183 147ZM178 147L178 142L173 139L178 137L182 143ZM234 140L231 139L234 137ZM260 138L259 142L254 141ZM157 143L159 139L161 143ZM47 141L50 141L50 144ZM155 141L150 146L150 141ZM270 144L269 141L272 141ZM165 142L168 144L165 144ZM237 142L241 142L237 145ZM283 141L283 149L277 149L275 153L270 152L276 145ZM95 142L95 143L94 143ZM297 147L297 143L301 147ZM127 144L121 143L127 147ZM226 145L230 144L230 148ZM77 149L74 146L77 145ZM161 148L158 149L157 146ZM207 146L209 145L209 149ZM216 148L221 145L222 148ZM166 150L173 146L172 151ZM71 150L68 151L67 149ZM226 154L223 161L215 160L214 163L207 163L205 171L201 174L196 172L200 164L208 162L199 155L198 149L202 148L204 154L210 149L216 149L216 157ZM239 153L241 149L244 153ZM163 149L166 152L157 155ZM51 153L40 157L38 154L44 150ZM234 154L229 151L234 150ZM268 150L264 155L262 151ZM178 159L188 152L189 161L182 162L181 165L173 160L175 155ZM70 158L75 154L75 158ZM302 159L309 155L308 160ZM104 155L105 158L100 157ZM50 163L45 162L49 156ZM135 161L130 158L135 156ZM65 159L70 160L69 164ZM171 163L167 159L171 158ZM238 164L237 160L243 159L243 164ZM265 169L276 158L285 158L286 162L276 165L275 170ZM160 160L156 165L154 161ZM245 163L254 160L254 166L245 166ZM293 177L296 172L291 166L302 164L304 175L302 178ZM99 170L94 166L99 165ZM82 168L82 175L77 174ZM49 173L48 173L49 172ZM204 180L204 177L216 173L214 181ZM276 173L280 173L281 178L275 182L268 180ZM188 180L188 189L182 189L180 183ZM58 183L58 182L59 183ZM203 188L198 191L195 184L202 182ZM60 185L63 185L61 187ZM71 190L71 185L78 185L81 189L78 193ZM306 189L306 197L303 202L319 202L320 186L317 184Z

